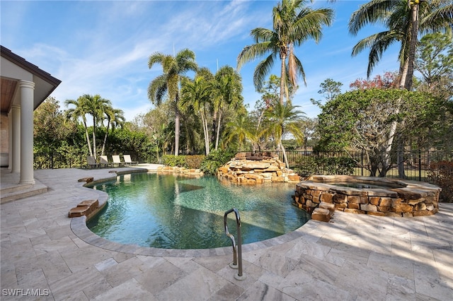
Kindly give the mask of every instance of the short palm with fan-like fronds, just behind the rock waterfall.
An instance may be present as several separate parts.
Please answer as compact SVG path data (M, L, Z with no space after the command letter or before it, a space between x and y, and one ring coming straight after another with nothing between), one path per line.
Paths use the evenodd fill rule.
M289 168L289 164L285 148L282 144L283 136L289 133L298 141L302 141L304 138L304 133L300 129L300 122L302 121L302 114L304 112L297 110L297 107L299 106L294 106L291 102L285 102L283 105L277 102L264 113L264 116L269 119L269 126L265 131L267 134L272 134L275 141L277 141L277 146L282 150L287 168Z

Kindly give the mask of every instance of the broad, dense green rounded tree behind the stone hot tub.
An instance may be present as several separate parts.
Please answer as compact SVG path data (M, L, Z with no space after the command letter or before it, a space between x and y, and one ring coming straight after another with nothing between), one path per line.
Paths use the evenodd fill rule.
M362 151L371 175L384 177L396 162L397 150L392 149L392 153L386 149L392 122L398 120L398 139L417 141L432 129L430 122L440 112L436 104L427 93L400 89L343 93L326 103L319 114L319 147L324 151ZM395 107L400 110L396 112Z

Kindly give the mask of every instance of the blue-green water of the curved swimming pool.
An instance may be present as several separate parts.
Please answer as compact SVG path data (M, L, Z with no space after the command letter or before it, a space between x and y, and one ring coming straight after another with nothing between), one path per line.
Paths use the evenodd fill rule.
M135 173L93 185L108 193L108 204L88 222L107 240L164 249L231 246L224 232L224 213L237 208L243 244L267 240L299 228L310 216L292 206L294 184L241 186L217 177L188 179ZM237 240L236 219L228 230Z

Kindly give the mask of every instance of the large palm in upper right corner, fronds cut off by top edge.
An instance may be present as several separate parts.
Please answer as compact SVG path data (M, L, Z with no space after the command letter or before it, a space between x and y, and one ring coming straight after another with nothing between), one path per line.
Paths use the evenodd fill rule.
M352 48L352 56L370 49L367 68L367 76L370 76L385 50L395 42L401 42L398 54L400 88L411 90L418 33L451 30L452 16L453 5L449 0L369 1L352 13L350 33L357 35L369 23L383 23L386 30L357 42Z

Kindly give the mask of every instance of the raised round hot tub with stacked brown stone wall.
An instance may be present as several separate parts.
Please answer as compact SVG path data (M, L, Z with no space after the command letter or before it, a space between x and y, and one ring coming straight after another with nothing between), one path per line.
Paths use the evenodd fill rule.
M313 211L321 202L338 211L374 216L430 216L439 210L440 187L382 177L315 175L299 182L295 205Z

